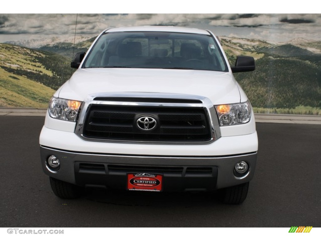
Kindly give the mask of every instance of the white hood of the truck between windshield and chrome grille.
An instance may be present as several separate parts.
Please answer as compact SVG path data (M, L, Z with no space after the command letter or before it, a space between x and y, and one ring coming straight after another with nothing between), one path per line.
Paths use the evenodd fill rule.
M108 92L153 92L155 97L157 93L193 94L209 98L214 105L245 98L229 72L138 68L78 69L55 96L83 101L90 94Z

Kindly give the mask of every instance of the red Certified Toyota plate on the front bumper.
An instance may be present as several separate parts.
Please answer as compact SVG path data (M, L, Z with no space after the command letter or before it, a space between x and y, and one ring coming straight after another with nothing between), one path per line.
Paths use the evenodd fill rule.
M160 174L129 173L127 174L127 190L132 191L162 191L162 179Z

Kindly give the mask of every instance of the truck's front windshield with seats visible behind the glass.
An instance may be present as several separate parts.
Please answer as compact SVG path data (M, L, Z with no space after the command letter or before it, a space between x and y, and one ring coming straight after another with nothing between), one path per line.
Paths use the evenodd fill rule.
M212 36L176 32L105 33L82 67L228 71Z

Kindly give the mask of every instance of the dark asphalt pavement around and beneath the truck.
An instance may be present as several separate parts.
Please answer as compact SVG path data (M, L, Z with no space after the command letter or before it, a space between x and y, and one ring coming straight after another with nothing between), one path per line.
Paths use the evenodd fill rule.
M241 205L222 204L215 193L102 189L61 200L40 165L44 110L39 111L40 116L1 112L7 114L0 116L0 227L321 227L321 126L316 123L256 118L258 162Z

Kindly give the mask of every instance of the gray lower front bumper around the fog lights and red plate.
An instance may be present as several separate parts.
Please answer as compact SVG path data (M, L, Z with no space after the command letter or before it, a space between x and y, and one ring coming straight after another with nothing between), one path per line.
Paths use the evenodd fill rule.
M211 191L249 182L254 175L257 153L233 156L122 156L75 153L40 146L44 172L56 179L76 185L103 185L126 189L127 173L162 174L164 191ZM60 161L60 169L51 171L49 156ZM239 161L249 164L249 172L239 178L233 174Z

